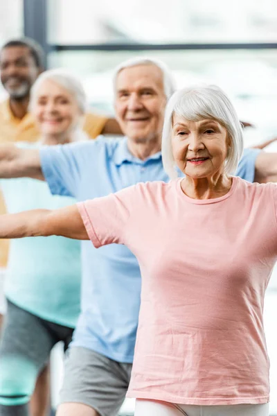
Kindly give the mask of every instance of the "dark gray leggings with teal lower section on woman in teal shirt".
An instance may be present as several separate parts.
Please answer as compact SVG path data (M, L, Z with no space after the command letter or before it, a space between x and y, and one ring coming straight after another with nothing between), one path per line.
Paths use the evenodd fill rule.
M0 415L28 415L39 372L59 341L67 348L73 329L39 318L8 301L0 339ZM15 406L21 406L20 413Z

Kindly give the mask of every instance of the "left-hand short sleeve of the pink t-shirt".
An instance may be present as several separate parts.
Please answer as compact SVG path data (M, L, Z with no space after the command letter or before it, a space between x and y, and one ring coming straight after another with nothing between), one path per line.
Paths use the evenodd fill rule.
M96 248L111 243L125 244L131 207L136 207L136 186L102 198L78 202L89 239Z

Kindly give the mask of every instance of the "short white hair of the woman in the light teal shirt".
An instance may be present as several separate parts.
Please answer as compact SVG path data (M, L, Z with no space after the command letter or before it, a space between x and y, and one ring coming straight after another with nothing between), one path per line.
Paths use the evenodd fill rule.
M51 80L66 89L75 99L82 114L87 111L87 96L81 81L64 69L49 69L38 76L30 92L30 110L32 110L39 87L45 80Z

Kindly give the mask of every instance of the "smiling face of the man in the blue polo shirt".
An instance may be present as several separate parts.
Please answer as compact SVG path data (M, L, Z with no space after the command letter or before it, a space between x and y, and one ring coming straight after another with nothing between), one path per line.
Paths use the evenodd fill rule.
M116 79L116 119L136 143L161 138L166 95L163 73L154 64L125 68Z

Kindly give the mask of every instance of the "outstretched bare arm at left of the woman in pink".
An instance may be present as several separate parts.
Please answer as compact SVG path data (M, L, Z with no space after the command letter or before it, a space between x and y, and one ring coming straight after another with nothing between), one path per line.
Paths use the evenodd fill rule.
M64 236L89 240L77 205L61 209L32 209L0 216L0 239Z

